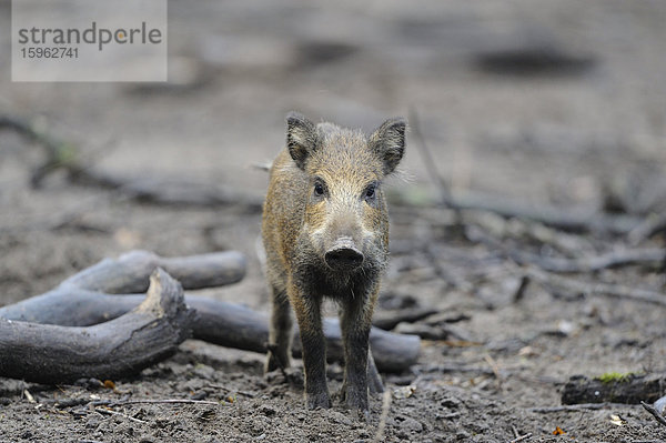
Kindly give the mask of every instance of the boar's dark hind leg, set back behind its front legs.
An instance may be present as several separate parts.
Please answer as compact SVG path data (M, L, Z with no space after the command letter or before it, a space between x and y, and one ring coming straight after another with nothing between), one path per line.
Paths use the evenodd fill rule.
M289 368L292 338L291 308L286 294L273 288L273 312L269 330L269 355L265 371Z

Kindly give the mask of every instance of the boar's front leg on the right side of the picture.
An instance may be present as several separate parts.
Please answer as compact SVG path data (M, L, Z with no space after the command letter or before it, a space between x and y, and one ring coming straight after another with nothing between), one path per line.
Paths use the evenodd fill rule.
M350 409L369 416L367 353L372 312L377 291L346 300L340 313L344 346L343 396Z

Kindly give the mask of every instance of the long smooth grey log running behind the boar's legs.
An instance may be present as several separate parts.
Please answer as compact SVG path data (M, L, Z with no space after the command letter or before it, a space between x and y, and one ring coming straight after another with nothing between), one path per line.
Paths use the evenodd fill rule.
M0 308L0 318L69 326L97 324L124 314L137 306L141 299L140 294L53 291ZM194 339L244 351L266 352L268 314L196 295L186 295L185 303L198 313L198 319L192 324ZM297 332L296 329L293 355L300 358ZM344 353L337 319L324 319L324 335L327 358L331 361L342 361ZM383 372L404 371L416 363L421 346L421 340L416 335L394 334L377 328L371 330L370 343L375 364Z

